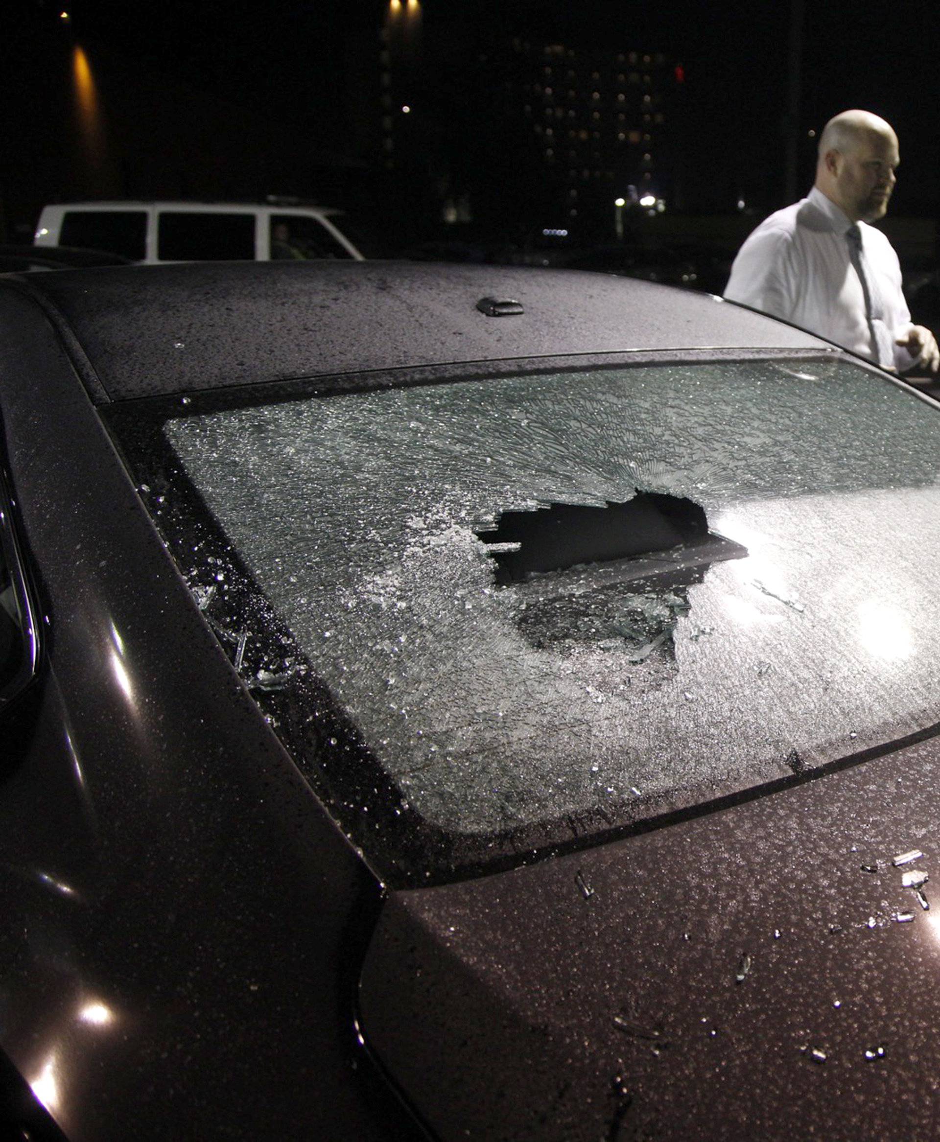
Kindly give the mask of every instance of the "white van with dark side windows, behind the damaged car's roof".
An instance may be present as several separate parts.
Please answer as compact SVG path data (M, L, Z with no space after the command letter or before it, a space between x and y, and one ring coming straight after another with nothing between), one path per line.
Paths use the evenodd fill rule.
M232 202L64 202L43 207L37 246L74 246L131 262L352 258L343 212L292 200Z

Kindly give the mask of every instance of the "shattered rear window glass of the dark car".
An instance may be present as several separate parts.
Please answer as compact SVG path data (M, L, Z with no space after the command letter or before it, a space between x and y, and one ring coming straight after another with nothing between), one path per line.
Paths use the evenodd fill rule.
M249 684L326 687L439 835L606 828L940 721L940 420L846 362L316 395L162 432L290 641ZM188 558L248 662L224 576Z

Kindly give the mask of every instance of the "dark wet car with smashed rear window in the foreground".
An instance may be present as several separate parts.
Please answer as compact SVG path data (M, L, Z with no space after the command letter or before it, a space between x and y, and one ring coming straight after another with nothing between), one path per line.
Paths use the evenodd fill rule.
M19 1136L935 1137L938 404L347 260L6 275L0 417Z

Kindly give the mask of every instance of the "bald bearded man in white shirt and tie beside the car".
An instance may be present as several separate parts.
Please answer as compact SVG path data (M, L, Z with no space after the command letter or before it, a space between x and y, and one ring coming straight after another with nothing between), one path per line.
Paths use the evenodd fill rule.
M869 223L883 218L898 137L868 111L844 111L819 140L809 195L749 235L724 296L819 333L885 369L937 372L937 340L915 325L898 255Z

